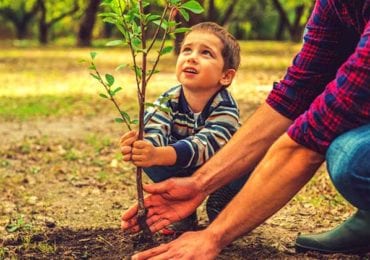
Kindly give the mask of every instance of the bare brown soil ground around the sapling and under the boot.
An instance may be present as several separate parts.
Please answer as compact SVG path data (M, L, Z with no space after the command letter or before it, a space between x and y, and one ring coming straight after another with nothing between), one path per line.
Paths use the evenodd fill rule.
M0 259L128 259L152 246L119 228L120 215L136 200L135 181L116 145L121 126L110 118L0 122ZM294 250L299 232L328 230L353 212L322 168L284 209L218 259L369 258ZM205 227L203 206L198 213Z

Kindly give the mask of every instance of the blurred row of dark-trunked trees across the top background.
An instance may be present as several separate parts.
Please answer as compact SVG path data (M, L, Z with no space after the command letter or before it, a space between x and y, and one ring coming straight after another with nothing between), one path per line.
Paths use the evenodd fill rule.
M119 0L117 0L119 1ZM93 40L118 37L116 29L97 16L101 0L0 0L0 39L29 39L47 44L68 38L78 46ZM163 0L150 0L147 7L161 9ZM205 12L192 15L191 26L214 21L240 40L300 41L313 0L200 0ZM175 39L176 46L181 35Z

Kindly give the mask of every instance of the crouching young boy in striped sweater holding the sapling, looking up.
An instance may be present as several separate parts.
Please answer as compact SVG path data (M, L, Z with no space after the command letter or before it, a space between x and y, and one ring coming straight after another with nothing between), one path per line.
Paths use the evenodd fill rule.
M169 98L162 105L170 112L146 112L145 140L137 141L135 131L122 136L123 160L144 167L154 182L195 172L240 126L239 109L226 90L239 63L240 46L224 28L211 22L193 26L176 63L181 85L158 99ZM238 182L230 185L238 186ZM173 229L192 230L196 223L194 213Z

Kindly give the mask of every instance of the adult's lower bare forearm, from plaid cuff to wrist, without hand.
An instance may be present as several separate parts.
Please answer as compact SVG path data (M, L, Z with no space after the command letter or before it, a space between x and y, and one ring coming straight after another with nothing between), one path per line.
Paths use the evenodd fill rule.
M281 136L239 194L210 225L209 232L218 246L223 248L281 209L323 161L323 155L296 143L287 134Z

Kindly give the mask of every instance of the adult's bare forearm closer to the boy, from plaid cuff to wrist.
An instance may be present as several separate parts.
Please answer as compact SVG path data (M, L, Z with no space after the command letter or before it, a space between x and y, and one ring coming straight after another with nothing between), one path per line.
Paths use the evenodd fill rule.
M200 184L203 192L210 194L252 171L291 123L268 104L261 105L233 138L194 173L195 182Z

